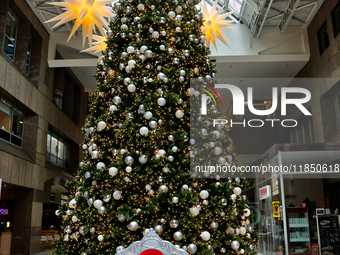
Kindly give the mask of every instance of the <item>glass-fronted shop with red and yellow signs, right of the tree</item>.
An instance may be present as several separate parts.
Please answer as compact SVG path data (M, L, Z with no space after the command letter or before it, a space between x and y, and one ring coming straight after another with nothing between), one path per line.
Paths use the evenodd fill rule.
M338 164L339 144L279 144L255 162L288 169L257 175L248 190L260 254L340 254Z

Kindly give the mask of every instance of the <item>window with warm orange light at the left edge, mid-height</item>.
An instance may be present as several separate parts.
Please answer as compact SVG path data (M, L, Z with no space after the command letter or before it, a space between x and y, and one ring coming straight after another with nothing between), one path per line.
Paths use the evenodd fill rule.
M0 98L0 139L22 146L24 113L5 98Z

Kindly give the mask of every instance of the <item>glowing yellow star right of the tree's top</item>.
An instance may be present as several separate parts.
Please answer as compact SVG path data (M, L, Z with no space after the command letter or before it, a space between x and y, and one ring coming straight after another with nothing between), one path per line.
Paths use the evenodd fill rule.
M209 47L210 42L212 42L212 44L215 46L216 51L217 51L217 47L216 47L215 37L220 39L225 45L229 47L227 42L230 42L230 41L228 40L227 37L225 37L224 34L222 34L220 29L232 29L233 28L230 25L230 23L233 23L233 21L224 20L224 19L230 16L234 12L232 11L232 12L228 12L226 14L220 15L224 6L216 12L217 3L218 3L218 0L214 2L210 12L208 11L205 0L202 0L202 2L200 3L201 11L204 17L204 23L201 29L206 38L206 45L207 47Z

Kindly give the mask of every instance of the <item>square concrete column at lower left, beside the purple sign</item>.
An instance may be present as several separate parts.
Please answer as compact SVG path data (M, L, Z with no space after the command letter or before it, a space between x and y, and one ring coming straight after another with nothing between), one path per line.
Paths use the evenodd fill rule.
M43 203L33 201L33 189L16 188L13 208L12 255L40 251Z

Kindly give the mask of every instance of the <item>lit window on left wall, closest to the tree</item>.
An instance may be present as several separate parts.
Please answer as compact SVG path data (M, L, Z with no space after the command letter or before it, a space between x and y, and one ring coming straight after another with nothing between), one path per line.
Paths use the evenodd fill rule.
M67 137L54 128L47 134L46 161L68 169L70 165L70 142Z

